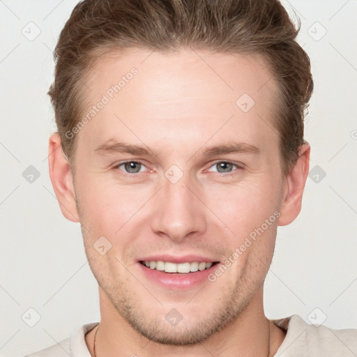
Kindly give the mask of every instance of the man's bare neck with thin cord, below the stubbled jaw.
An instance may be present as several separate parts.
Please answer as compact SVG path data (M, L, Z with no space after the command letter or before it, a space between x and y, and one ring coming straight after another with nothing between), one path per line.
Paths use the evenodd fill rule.
M264 315L262 287L236 320L208 340L190 346L168 346L147 340L116 312L104 291L99 290L101 321L98 328L86 335L86 344L93 357L266 357L274 356L285 337L285 333L269 323Z

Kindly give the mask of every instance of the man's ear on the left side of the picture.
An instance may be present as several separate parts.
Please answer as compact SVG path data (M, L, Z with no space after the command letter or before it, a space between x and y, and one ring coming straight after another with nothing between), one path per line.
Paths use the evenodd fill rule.
M72 222L79 222L73 176L70 172L70 164L63 154L61 138L58 134L51 135L48 154L50 178L62 214Z

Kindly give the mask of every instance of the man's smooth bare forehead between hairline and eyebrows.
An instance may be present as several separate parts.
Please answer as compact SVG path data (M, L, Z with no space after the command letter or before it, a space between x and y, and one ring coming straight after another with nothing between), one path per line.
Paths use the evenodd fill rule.
M250 141L255 136L256 141L268 142L277 134L272 77L259 56L193 50L112 52L84 78L82 115L100 101L105 105L79 137L88 132L93 145L100 144L126 126L130 139L140 134L150 141L148 137L157 133L172 143L176 139L177 145L214 131L215 138L239 132ZM179 137L183 131L185 136Z

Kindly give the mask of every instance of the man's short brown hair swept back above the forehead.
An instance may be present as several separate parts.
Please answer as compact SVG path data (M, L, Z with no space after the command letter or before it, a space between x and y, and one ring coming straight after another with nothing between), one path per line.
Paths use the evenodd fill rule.
M282 173L298 158L313 81L310 59L296 42L300 30L278 0L84 0L73 9L54 51L50 95L63 153L74 162L84 74L112 50L159 52L192 47L227 54L258 54L278 83Z

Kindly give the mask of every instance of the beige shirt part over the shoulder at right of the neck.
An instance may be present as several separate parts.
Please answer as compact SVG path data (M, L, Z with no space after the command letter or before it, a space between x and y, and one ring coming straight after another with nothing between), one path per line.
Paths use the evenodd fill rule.
M300 316L273 320L287 333L275 356L353 357L357 356L357 329L335 330L307 324Z

